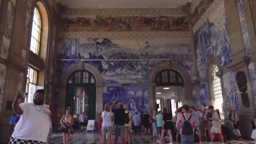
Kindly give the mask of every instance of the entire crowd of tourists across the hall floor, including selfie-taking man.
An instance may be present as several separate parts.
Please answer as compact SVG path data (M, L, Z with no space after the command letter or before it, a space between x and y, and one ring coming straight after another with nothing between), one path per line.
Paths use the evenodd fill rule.
M11 117L10 125L14 128L14 132L10 137L9 143L50 143L53 135L52 124L57 122L58 115L53 109L53 105L44 104L44 90L39 89L34 93L33 103L21 103L22 94L17 94L13 101L13 110L16 113ZM240 117L230 106L228 109L228 123L230 128L234 129L236 140L241 140L239 130ZM99 131L102 138L102 143L112 143L112 135L115 136L114 143L133 143L132 131L135 135L150 135L153 136L156 142L162 143L168 139L172 142L194 143L200 142L202 139L208 139L210 143L221 141L224 143L223 131L219 110L214 110L213 106L205 107L205 109L195 109L194 106L183 105L180 107L174 116L169 113L166 108L163 111L154 112L151 117L148 111L142 112L140 115L135 112L131 115L128 106L123 106L123 103L114 101L112 105L104 105L104 111L100 115ZM85 123L85 113L79 116L83 131ZM63 134L63 143L68 143L70 134L74 133L72 125L74 124L73 117L70 115L70 110L67 109L65 115L60 121L60 130ZM254 129L256 119L254 119ZM152 129L153 128L153 129ZM226 135L225 135L226 136ZM119 141L119 137L120 140ZM256 130L253 130L252 139L256 142Z

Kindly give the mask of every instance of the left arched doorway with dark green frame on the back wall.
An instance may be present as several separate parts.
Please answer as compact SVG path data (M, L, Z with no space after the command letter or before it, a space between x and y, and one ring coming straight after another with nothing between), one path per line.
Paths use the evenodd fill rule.
M67 79L66 103L71 115L79 116L85 112L88 119L95 119L96 114L96 79L87 70L77 70Z

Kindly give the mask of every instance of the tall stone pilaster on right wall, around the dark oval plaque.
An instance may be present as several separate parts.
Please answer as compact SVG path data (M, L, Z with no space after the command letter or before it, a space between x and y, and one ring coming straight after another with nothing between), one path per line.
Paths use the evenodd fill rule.
M245 2L246 7L248 8L248 3ZM250 1L252 2L252 1ZM255 2L253 2L255 3ZM253 104L253 93L252 86L249 79L249 71L248 64L250 58L246 57L245 46L242 36L240 17L238 15L236 1L224 0L226 18L228 22L228 31L231 45L231 53L232 53L232 63L226 67L230 69L232 73L237 73L238 71L244 71L247 76L247 93L250 101L250 106L245 107L242 105L241 93L238 92L238 99L240 101L241 107L241 116L240 116L240 124L241 124L241 134L243 137L251 136L252 124L250 123L254 118L254 104ZM254 6L255 7L255 6ZM247 19L248 19L248 11L245 10ZM246 21L249 21L246 20ZM249 25L249 31L252 31L252 25ZM250 32L252 33L252 32ZM252 34L249 34L252 35ZM252 36L251 36L252 37ZM254 36L255 37L255 36ZM252 40L251 40L252 41Z

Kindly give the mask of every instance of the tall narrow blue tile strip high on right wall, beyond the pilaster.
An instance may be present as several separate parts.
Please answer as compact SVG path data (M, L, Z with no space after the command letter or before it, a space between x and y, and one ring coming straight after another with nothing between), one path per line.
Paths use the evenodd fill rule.
M243 34L243 43L245 45L246 56L251 57L252 51L251 51L251 44L250 44L250 40L249 40L248 27L247 27L246 19L245 19L245 12L243 11L243 1L236 0L236 3L237 3L239 19L240 19L240 23L241 23L241 29L242 29L242 34Z

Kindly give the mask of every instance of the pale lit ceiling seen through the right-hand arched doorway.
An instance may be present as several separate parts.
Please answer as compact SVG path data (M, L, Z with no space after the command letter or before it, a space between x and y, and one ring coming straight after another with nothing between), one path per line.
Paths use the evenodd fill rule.
M182 90L184 87L170 86L170 89L163 89L165 87L155 87L156 98L162 99L175 99L175 92ZM161 94L158 94L161 93Z

